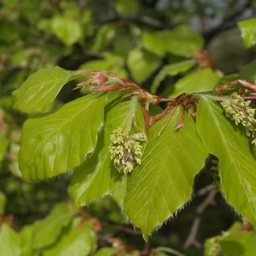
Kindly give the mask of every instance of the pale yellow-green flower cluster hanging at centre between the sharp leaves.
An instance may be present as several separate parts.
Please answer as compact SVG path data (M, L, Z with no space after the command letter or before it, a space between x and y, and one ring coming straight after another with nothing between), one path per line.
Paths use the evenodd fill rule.
M131 173L135 164L141 164L140 142L145 141L142 133L131 135L128 130L119 127L113 131L110 141L110 158L114 160L114 166L119 173Z

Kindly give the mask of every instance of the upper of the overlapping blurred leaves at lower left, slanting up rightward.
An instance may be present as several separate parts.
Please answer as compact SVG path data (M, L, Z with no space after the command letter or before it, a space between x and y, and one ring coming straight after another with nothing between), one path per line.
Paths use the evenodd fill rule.
M67 227L74 215L66 203L56 204L49 215L34 223L32 246L41 248L52 245L62 235L64 227Z

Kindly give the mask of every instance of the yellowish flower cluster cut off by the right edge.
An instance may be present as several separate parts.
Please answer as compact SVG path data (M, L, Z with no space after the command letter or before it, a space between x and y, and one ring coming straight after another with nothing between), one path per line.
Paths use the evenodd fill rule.
M248 137L255 138L255 124L254 118L256 109L252 109L248 106L248 103L238 95L236 92L231 95L230 99L225 99L221 102L223 109L226 112L226 117L234 120L236 125L241 123L246 128L246 134ZM256 139L252 141L256 144Z

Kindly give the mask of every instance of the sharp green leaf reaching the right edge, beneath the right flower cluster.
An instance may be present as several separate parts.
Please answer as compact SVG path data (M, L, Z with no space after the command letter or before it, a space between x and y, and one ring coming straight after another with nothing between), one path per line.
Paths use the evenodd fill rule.
M256 161L245 128L228 120L222 108L203 95L196 126L205 148L219 159L221 190L227 202L256 227Z

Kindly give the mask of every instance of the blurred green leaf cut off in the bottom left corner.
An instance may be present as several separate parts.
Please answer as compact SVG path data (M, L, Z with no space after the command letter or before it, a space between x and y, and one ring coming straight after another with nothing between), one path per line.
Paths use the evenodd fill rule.
M20 256L21 241L19 234L15 232L7 223L2 223L0 227L0 255Z

